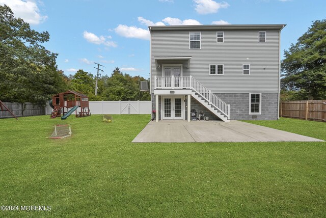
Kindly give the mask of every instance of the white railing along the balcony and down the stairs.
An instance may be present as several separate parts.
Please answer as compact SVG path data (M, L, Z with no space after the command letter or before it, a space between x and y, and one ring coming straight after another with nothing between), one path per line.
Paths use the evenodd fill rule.
M155 89L192 89L203 97L208 104L216 107L222 114L230 118L230 104L212 93L193 76L155 76Z

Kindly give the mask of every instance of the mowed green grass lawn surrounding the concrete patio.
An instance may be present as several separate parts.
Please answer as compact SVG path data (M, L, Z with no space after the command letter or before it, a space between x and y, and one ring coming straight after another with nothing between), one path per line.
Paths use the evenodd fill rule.
M131 143L148 115L0 120L0 217L325 217L326 143ZM251 121L326 140L326 124ZM47 139L55 124L73 135Z

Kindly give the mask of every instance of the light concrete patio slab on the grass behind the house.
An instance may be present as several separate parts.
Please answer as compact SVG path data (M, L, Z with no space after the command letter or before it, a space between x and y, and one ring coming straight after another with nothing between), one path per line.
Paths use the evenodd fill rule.
M150 121L132 142L323 142L291 132L232 120Z

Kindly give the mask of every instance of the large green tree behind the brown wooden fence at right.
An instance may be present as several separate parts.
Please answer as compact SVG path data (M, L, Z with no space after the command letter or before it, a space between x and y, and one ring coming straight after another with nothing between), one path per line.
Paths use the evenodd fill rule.
M306 99L326 98L326 19L313 22L308 31L284 51L281 64L283 90L300 91ZM302 99L303 100L303 99Z

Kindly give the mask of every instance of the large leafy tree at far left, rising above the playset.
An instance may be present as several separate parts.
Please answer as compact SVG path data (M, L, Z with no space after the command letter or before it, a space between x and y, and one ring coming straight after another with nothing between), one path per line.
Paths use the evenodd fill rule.
M8 6L0 6L0 99L45 102L67 88L57 54L42 46L48 40L48 32L31 30Z

